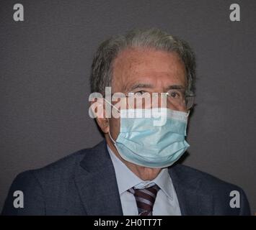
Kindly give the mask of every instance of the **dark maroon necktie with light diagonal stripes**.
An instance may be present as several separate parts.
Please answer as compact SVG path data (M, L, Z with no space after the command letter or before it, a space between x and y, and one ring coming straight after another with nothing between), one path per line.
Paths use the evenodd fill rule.
M138 216L152 216L154 201L156 200L158 190L159 187L157 185L143 189L136 189L134 187L128 189L128 192L132 193L135 197Z

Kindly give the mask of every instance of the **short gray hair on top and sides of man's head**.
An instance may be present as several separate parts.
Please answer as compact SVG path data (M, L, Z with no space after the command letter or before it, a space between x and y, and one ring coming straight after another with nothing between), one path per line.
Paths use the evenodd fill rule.
M90 76L91 91L105 94L105 87L112 83L112 63L118 54L130 47L148 47L155 50L176 52L185 64L187 93L195 91L195 54L190 45L160 29L133 29L102 42L94 55Z

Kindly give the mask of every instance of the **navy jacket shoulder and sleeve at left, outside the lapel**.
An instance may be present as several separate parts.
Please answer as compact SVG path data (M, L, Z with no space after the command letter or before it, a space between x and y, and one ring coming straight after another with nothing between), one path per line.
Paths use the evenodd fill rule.
M58 198L72 197L72 195L74 198L76 195L73 186L74 171L90 150L91 148L81 149L45 167L19 173L12 182L1 214L45 215L48 213L48 206L53 203L57 203L58 206ZM14 207L15 191L22 192L23 208ZM59 209L61 208L63 209L63 207Z

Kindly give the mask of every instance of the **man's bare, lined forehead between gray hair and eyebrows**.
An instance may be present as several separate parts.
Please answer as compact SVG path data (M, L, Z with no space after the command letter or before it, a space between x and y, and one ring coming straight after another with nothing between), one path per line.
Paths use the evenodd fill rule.
M112 69L112 88L122 91L133 83L186 85L185 65L175 52L130 48L120 52Z

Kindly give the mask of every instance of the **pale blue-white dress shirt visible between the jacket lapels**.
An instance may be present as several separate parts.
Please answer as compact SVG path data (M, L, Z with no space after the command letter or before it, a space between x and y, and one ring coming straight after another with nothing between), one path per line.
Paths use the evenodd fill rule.
M107 146L107 149L110 153L110 157L115 168L115 177L118 182L118 190L123 208L123 215L138 216L138 208L134 195L129 193L127 190L133 186L141 189L147 188L154 184L158 185L160 190L156 195L152 215L181 215L177 194L175 192L175 188L173 187L172 179L169 176L167 168L162 169L154 180L141 180L112 152L109 146Z

